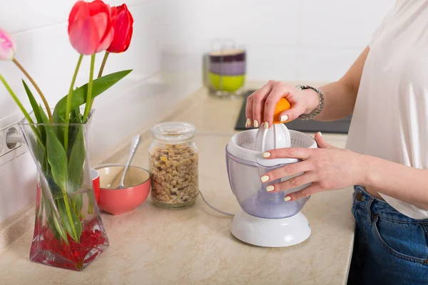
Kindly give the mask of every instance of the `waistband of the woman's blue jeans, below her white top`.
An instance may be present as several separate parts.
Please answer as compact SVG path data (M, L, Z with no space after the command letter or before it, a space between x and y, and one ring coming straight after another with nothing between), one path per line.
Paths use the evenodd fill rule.
M376 197L373 197L365 190L365 187L356 185L354 187L354 204L356 206L367 209L372 214L377 214L379 217L389 219L394 222L402 222L408 224L428 224L428 219L412 219L398 212L391 207L387 202L384 202Z

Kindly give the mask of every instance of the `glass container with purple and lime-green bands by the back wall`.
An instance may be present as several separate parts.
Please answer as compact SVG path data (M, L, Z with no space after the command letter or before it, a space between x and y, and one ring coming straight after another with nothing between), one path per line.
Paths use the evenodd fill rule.
M210 95L237 98L243 95L247 52L233 40L213 40L204 56L203 80Z

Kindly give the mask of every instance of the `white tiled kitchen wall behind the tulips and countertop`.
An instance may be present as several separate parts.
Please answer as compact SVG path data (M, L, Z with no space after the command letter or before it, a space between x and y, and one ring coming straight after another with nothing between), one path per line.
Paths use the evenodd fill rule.
M4 2L7 0L0 0ZM51 105L67 93L78 54L66 20L74 0L14 0L0 10L0 26L14 34L16 58ZM121 0L106 1L121 4ZM131 47L111 55L106 73L133 68L96 100L91 153L97 157L201 85L201 57L212 38L234 38L248 49L248 79L333 81L367 45L394 0L128 0L134 16ZM25 7L25 9L23 9ZM49 9L46 9L49 7ZM102 54L98 56L99 65ZM4 74L28 107L21 73ZM88 58L77 84L86 83ZM1 87L1 86L0 86ZM18 112L0 88L2 119ZM0 166L0 222L34 201L29 153Z

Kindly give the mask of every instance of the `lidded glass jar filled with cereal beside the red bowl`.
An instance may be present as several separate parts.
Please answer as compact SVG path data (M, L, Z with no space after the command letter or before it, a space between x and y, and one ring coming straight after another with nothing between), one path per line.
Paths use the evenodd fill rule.
M188 123L167 122L151 128L149 147L151 197L160 207L181 208L195 204L199 195L196 128Z

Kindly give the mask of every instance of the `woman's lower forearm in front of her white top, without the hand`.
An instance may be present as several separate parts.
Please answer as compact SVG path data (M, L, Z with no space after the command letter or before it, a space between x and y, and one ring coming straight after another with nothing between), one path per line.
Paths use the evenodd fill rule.
M428 170L365 156L362 185L428 210Z

